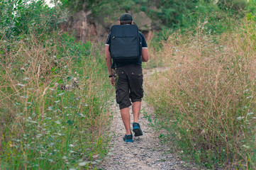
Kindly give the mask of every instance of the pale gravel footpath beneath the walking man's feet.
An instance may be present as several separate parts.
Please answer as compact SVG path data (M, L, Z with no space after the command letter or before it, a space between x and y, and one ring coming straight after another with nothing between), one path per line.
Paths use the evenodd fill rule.
M147 83L147 77L150 74L164 70L154 69L145 72L145 83ZM152 108L143 101L140 113L140 127L143 130L143 136L133 136L133 143L126 143L123 142L125 129L118 106L113 106L111 149L104 162L102 162L101 169L196 169L194 164L182 161L177 154L169 154L169 148L161 144L157 134L150 127L147 116L143 114L150 115L153 112ZM133 115L131 114L132 121Z

